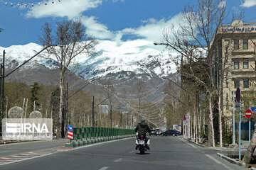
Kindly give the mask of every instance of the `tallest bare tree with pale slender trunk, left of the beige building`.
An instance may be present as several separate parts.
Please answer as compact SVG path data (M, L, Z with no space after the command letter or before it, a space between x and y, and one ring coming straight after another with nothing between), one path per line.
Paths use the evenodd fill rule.
M211 40L215 35L215 28L221 26L225 19L225 6L220 6L218 0L198 0L196 6L187 5L184 7L181 15L181 23L178 24L178 30L172 26L164 32L164 40L170 47L178 50L184 57L182 62L188 63L189 72L181 72L186 77L196 81L198 86L202 86L208 94L208 111L210 119L209 140L210 145L215 147L213 130L213 97L215 96L215 76L213 52L210 50ZM207 46L207 48L206 48ZM202 54L207 55L202 59ZM181 68L180 57L174 57L176 64ZM204 67L201 61L204 60ZM178 61L178 62L177 62ZM197 67L197 69L192 69ZM196 72L195 72L196 70ZM203 73L198 74L198 72ZM207 79L206 77L207 76Z

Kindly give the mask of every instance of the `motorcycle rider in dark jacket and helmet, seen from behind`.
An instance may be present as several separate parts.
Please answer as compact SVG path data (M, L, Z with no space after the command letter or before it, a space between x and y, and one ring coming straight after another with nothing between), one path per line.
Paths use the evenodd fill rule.
M150 135L150 128L149 128L149 125L146 124L146 120L144 118L142 118L142 121L141 123L138 123L136 129L135 129L135 132L137 132L137 136L144 136L146 137L146 132L149 132L149 135ZM146 149L150 149L149 148L149 137L146 137ZM138 149L138 141L136 140L136 148L135 149Z

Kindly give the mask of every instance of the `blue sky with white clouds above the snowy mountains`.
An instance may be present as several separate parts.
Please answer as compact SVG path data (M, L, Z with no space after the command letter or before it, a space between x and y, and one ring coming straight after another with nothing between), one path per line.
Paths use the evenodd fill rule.
M21 3L19 7L18 2ZM40 6L38 2L41 3ZM55 23L62 21L64 17L70 20L80 19L87 28L87 33L99 40L120 42L144 39L161 42L162 30L171 23L178 22L178 14L184 5L195 2L196 0L0 0L0 28L4 29L0 33L0 46L38 43L41 26L48 22L54 28ZM247 23L256 22L256 0L227 0L226 3L229 11L243 8Z

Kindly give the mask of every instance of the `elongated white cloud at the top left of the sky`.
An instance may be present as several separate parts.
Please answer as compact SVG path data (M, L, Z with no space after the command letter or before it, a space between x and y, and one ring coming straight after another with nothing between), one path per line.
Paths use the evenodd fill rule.
M68 17L70 19L81 16L83 11L90 8L97 8L102 3L102 0L61 0L54 4L48 1L48 5L41 4L30 8L26 16L28 18L43 18L43 17Z

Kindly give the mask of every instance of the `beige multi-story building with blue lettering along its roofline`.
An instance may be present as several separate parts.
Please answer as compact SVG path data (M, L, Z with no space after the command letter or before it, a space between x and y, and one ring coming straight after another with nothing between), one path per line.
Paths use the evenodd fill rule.
M225 125L232 125L233 91L238 87L241 94L250 90L250 81L255 81L256 26L234 21L231 26L220 26L212 40L215 63L215 84L223 77L223 117ZM245 110L246 108L243 108Z

